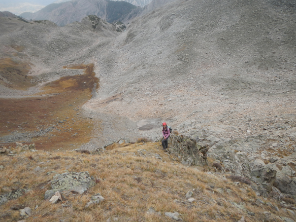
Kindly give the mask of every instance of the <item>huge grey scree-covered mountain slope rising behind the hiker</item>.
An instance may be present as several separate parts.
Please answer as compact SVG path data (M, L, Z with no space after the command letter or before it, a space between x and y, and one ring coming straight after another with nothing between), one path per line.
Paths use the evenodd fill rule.
M58 49L51 51L46 69L61 57L63 65L94 63L100 77L99 96L85 107L106 115L102 118L112 119L115 125L124 116L134 127L128 137L155 138L157 129L136 128L137 122L149 118L170 121L194 137L203 130L228 138L247 132L258 135L266 133L262 126L241 116L261 122L282 109L294 112L295 8L291 2L273 0L172 1L136 18L126 32L104 43L96 35L87 36L88 44L83 40L80 45L88 49L81 52L61 34L44 36L43 42L34 44L35 31L30 30L29 39L23 39L27 34L20 31L16 40L5 41L30 40L44 55L48 49ZM75 26L59 32L75 33ZM82 41L84 34L76 34ZM61 38L63 50L53 45L55 38ZM43 66L42 60L36 61ZM285 121L293 122L290 117ZM111 129L105 130L103 135L110 135ZM119 134L114 137L125 136ZM112 141L113 136L101 140Z

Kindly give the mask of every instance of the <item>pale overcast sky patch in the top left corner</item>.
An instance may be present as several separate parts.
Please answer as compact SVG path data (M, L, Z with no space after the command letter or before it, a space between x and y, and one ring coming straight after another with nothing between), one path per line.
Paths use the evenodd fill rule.
M25 11L35 12L56 0L0 0L0 11L19 15Z

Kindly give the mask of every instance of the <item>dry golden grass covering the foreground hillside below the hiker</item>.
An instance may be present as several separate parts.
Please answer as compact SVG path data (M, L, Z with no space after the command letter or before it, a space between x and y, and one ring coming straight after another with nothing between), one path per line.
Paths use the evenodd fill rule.
M16 156L1 155L4 169L0 171L0 194L26 188L30 191L16 200L0 206L0 221L20 220L19 211L12 206L25 205L33 215L26 222L171 222L164 212L178 212L186 222L237 221L244 216L248 222L262 221L263 212L285 216L265 206L252 205L258 198L249 185L235 185L222 176L208 174L194 167L172 161L157 143L114 145L100 154L75 151L26 151ZM138 150L140 150L138 152ZM163 160L155 158L159 154ZM34 169L40 166L41 171ZM208 169L208 168L206 168ZM55 171L54 173L48 173ZM97 185L85 194L62 193L62 202L51 204L44 200L44 193L51 189L50 181L56 173L89 171ZM186 200L187 191L193 191L193 203ZM91 196L100 193L105 200L85 209ZM245 208L235 207L244 203ZM272 200L268 202L274 203ZM38 208L34 210L35 206ZM160 214L148 215L153 207ZM264 208L264 209L263 209ZM276 221L276 220L275 220Z

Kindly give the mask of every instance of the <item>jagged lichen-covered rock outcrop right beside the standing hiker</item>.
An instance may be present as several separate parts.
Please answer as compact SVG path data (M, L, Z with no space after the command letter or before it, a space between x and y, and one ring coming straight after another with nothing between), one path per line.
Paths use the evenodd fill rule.
M199 151L200 148L194 139L184 135L172 134L168 140L168 150L184 165L203 166L206 163L206 156Z

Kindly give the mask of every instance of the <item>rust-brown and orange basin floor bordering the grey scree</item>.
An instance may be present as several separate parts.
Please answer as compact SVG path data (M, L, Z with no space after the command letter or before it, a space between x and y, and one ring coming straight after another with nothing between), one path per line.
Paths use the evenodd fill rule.
M0 146L15 142L36 149L71 149L90 141L95 120L81 106L99 87L94 65L72 65L84 74L65 76L45 84L40 93L26 98L0 98Z

